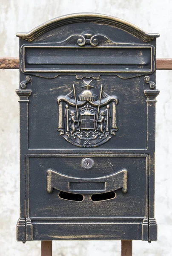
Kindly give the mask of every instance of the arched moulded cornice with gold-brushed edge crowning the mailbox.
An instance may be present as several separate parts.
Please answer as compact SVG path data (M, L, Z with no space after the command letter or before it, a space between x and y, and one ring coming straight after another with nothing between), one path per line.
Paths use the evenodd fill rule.
M94 22L114 26L116 28L129 32L130 34L141 39L143 42L148 42L154 38L159 37L158 33L146 33L143 29L140 29L138 26L135 26L126 20L98 13L75 13L70 15L64 15L49 20L41 24L40 26L37 26L36 28L32 29L28 33L17 33L16 36L23 40L31 42L34 41L34 39L38 38L40 35L43 35L44 33L54 28L67 25L70 23L81 22Z

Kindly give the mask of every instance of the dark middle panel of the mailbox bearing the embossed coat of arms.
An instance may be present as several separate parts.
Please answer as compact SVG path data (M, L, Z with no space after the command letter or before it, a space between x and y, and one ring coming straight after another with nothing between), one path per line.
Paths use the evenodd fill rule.
M73 84L75 84L76 97L78 98L78 96L85 91L87 87L86 83L89 83L91 88L89 91L94 92L97 99L102 84L102 101L104 100L105 104L106 98L108 97L112 98L112 96L115 96L114 99L117 99L117 101L109 102L109 104L107 103L105 106L100 107L100 114L103 113L101 111L104 111L104 117L109 122L108 124L107 121L102 122L103 132L105 132L105 134L101 139L101 136L97 137L97 135L101 133L101 128L99 128L95 134L93 133L95 131L94 128L96 128L98 100L96 101L97 105L90 105L89 102L86 101L78 101L78 105L80 103L80 106L78 106L78 115L82 122L80 122L80 132L77 131L76 138L74 138L75 136L71 136L67 131L72 129L72 121L70 120L72 115L71 111L74 112L75 119L77 119L75 106L70 106L71 102L67 104L65 101L60 102L60 108L57 104L57 97L61 95L65 97L71 93ZM100 148L106 149L107 147L117 150L146 149L147 104L146 96L143 93L146 87L148 86L144 83L143 78L125 80L114 75L103 75L100 76L100 79L78 80L72 75L61 75L53 81L45 81L43 78L34 77L32 94L29 96L30 102L28 110L29 148L37 150L62 150L68 148L75 151L79 147L81 152L95 147L98 150ZM47 91L49 93L47 93ZM103 99L104 95L108 96ZM95 102L92 103L94 104ZM113 104L115 104L115 106ZM67 109L66 105L68 106ZM87 117L84 113L87 113ZM62 115L61 120L59 120L60 115ZM66 119L67 115L68 120ZM87 120L93 120L93 122ZM113 128L110 127L112 121L115 122ZM60 127L60 125L62 127ZM97 123L97 128L99 125L100 122ZM106 128L105 125L109 125L109 127ZM76 125L73 123L73 126L74 131L75 129L79 129L78 123L76 123ZM112 134L113 130L114 134ZM60 133L58 131L64 132L64 134L59 136ZM95 135L95 138L92 135ZM81 136L82 139L80 139ZM105 142L107 140L111 140L111 143L106 144ZM86 141L88 141L87 144Z

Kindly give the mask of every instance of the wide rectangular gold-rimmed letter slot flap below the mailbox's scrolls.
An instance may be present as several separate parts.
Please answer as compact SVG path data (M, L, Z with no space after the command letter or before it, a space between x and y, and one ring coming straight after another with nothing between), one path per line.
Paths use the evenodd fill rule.
M152 47L23 47L24 72L151 73Z

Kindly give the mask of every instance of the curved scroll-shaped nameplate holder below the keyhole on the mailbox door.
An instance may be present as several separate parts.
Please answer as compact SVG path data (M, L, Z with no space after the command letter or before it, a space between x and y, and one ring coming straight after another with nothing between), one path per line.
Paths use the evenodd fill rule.
M111 175L97 178L78 178L47 170L47 192L53 189L77 194L101 194L122 189L127 192L127 170L123 169Z

